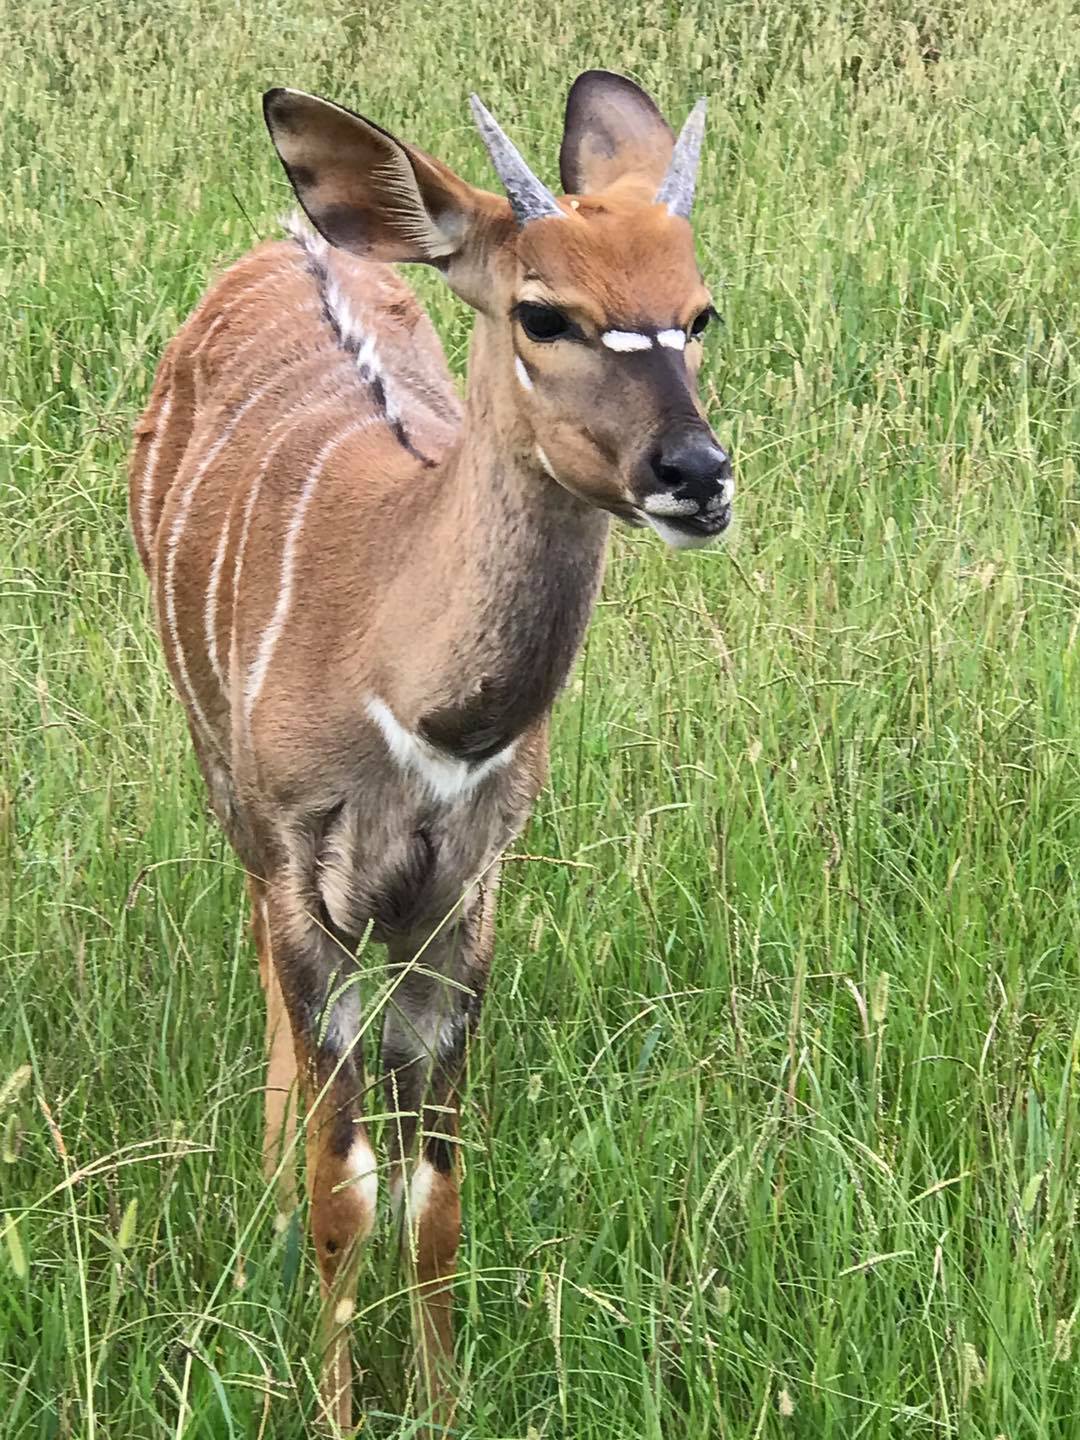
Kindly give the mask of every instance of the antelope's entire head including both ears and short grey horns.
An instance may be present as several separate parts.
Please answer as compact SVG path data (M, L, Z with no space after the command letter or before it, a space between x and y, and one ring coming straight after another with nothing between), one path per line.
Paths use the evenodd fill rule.
M579 498L703 546L732 518L732 465L698 399L713 315L690 213L704 101L678 137L631 81L588 71L560 150L566 194L472 112L504 196L369 120L271 91L266 124L321 235L376 261L426 262L478 311L472 370L500 442Z

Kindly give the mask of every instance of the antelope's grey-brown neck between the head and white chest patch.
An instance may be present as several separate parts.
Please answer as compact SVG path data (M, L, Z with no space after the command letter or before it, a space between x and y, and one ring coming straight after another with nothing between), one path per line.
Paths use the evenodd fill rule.
M541 468L511 399L513 356L487 328L477 321L461 438L441 477L445 523L423 593L446 644L418 723L431 744L472 763L552 707L585 636L609 530L603 511Z

